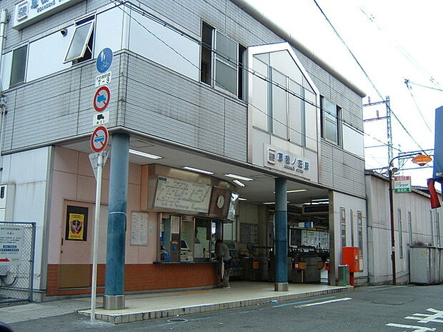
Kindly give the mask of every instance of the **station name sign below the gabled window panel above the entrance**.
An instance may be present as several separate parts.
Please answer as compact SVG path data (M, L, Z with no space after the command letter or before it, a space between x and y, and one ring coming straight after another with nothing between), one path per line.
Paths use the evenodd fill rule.
M266 156L264 166L303 178L311 178L309 159L267 144L264 145L264 154Z

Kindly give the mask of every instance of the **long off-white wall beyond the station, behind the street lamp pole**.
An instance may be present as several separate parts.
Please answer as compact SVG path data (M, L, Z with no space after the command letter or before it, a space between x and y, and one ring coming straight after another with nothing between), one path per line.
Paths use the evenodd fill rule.
M391 221L389 210L389 186L387 178L366 176L368 203L368 251L369 283L392 281ZM394 236L397 283L409 281L409 246L432 246L437 243L436 223L430 216L441 214L442 208L430 210L429 196L417 190L412 193L394 193ZM402 231L399 232L399 211ZM411 213L412 241L409 233L408 213ZM434 226L432 230L431 226ZM434 243L432 242L434 233ZM402 236L403 252L400 255L399 236Z

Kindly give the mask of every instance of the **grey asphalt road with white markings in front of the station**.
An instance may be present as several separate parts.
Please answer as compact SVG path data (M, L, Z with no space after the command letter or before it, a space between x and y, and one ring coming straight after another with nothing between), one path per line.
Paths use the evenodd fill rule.
M13 323L14 332L443 331L443 285L361 287L331 296L113 325L77 314ZM173 318L173 319L177 319Z

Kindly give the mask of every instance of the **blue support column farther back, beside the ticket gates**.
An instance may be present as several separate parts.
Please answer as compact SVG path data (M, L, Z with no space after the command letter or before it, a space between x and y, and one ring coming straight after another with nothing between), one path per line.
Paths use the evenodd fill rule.
M287 180L275 179L275 291L288 291Z

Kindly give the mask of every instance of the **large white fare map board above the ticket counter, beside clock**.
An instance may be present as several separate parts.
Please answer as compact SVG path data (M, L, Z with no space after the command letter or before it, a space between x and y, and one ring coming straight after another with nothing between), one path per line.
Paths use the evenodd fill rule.
M154 199L155 208L208 213L211 186L175 178L159 177Z

